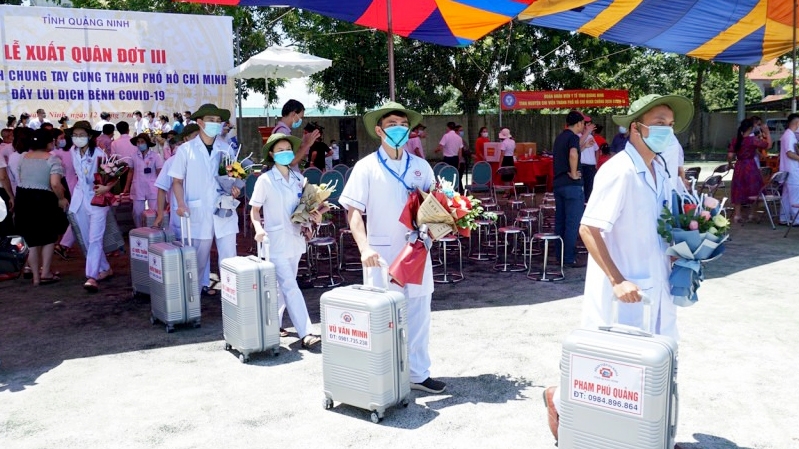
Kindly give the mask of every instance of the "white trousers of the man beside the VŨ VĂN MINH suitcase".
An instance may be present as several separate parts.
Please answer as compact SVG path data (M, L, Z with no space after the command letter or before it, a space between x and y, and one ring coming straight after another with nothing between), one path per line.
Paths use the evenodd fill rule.
M433 295L408 298L408 358L411 382L430 377L430 304Z

